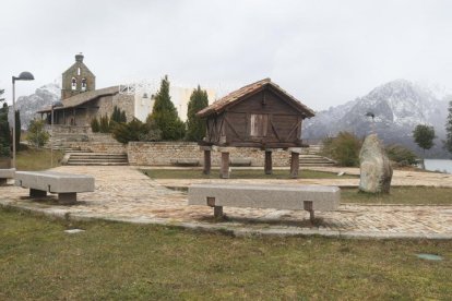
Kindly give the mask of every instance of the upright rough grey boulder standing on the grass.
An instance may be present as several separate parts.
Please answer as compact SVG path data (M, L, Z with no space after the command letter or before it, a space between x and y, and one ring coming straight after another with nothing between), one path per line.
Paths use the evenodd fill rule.
M377 134L366 137L359 153L360 181L359 190L370 193L389 193L392 168Z

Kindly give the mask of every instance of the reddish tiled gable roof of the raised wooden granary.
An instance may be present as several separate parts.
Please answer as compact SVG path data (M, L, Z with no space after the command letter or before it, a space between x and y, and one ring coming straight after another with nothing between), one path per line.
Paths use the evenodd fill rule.
M293 106L295 106L299 111L304 112L308 118L313 117L316 113L313 110L301 104L298 99L296 99L294 96L288 94L286 91L281 88L278 85L273 83L270 79L263 79L259 82L246 85L235 92L229 93L228 95L224 96L223 98L216 100L209 107L202 109L197 113L198 117L206 117L213 113L218 113L225 110L226 108L236 105L240 100L247 98L251 94L254 94L267 86L271 86L275 88L277 92L286 96L285 98Z

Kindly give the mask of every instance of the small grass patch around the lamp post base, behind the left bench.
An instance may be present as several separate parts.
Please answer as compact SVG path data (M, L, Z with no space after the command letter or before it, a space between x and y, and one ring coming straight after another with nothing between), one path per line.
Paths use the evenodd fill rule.
M61 150L53 149L53 167L60 166L62 157ZM17 170L44 170L51 167L50 149L21 149L17 152L15 160Z

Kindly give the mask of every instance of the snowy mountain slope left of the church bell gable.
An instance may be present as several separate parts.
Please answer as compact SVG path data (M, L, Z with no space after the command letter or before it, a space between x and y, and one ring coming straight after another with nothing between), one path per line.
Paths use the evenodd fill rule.
M50 83L37 88L34 94L21 96L15 101L15 109L21 111L21 127L23 130L28 128L29 121L36 117L36 111L51 106L61 98L61 87L59 83ZM12 124L12 108L9 115Z

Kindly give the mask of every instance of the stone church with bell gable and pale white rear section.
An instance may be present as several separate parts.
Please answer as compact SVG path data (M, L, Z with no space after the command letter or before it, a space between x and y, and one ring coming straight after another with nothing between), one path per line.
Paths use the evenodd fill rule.
M154 107L153 95L158 85L116 85L96 89L96 76L83 62L84 56L75 56L75 62L62 73L61 101L37 111L48 124L59 132L91 132L93 119L110 117L114 108L126 112L127 121L136 118L145 121ZM175 104L179 118L187 120L188 100L193 88L170 86L169 95ZM207 89L209 103L215 99L215 92Z

